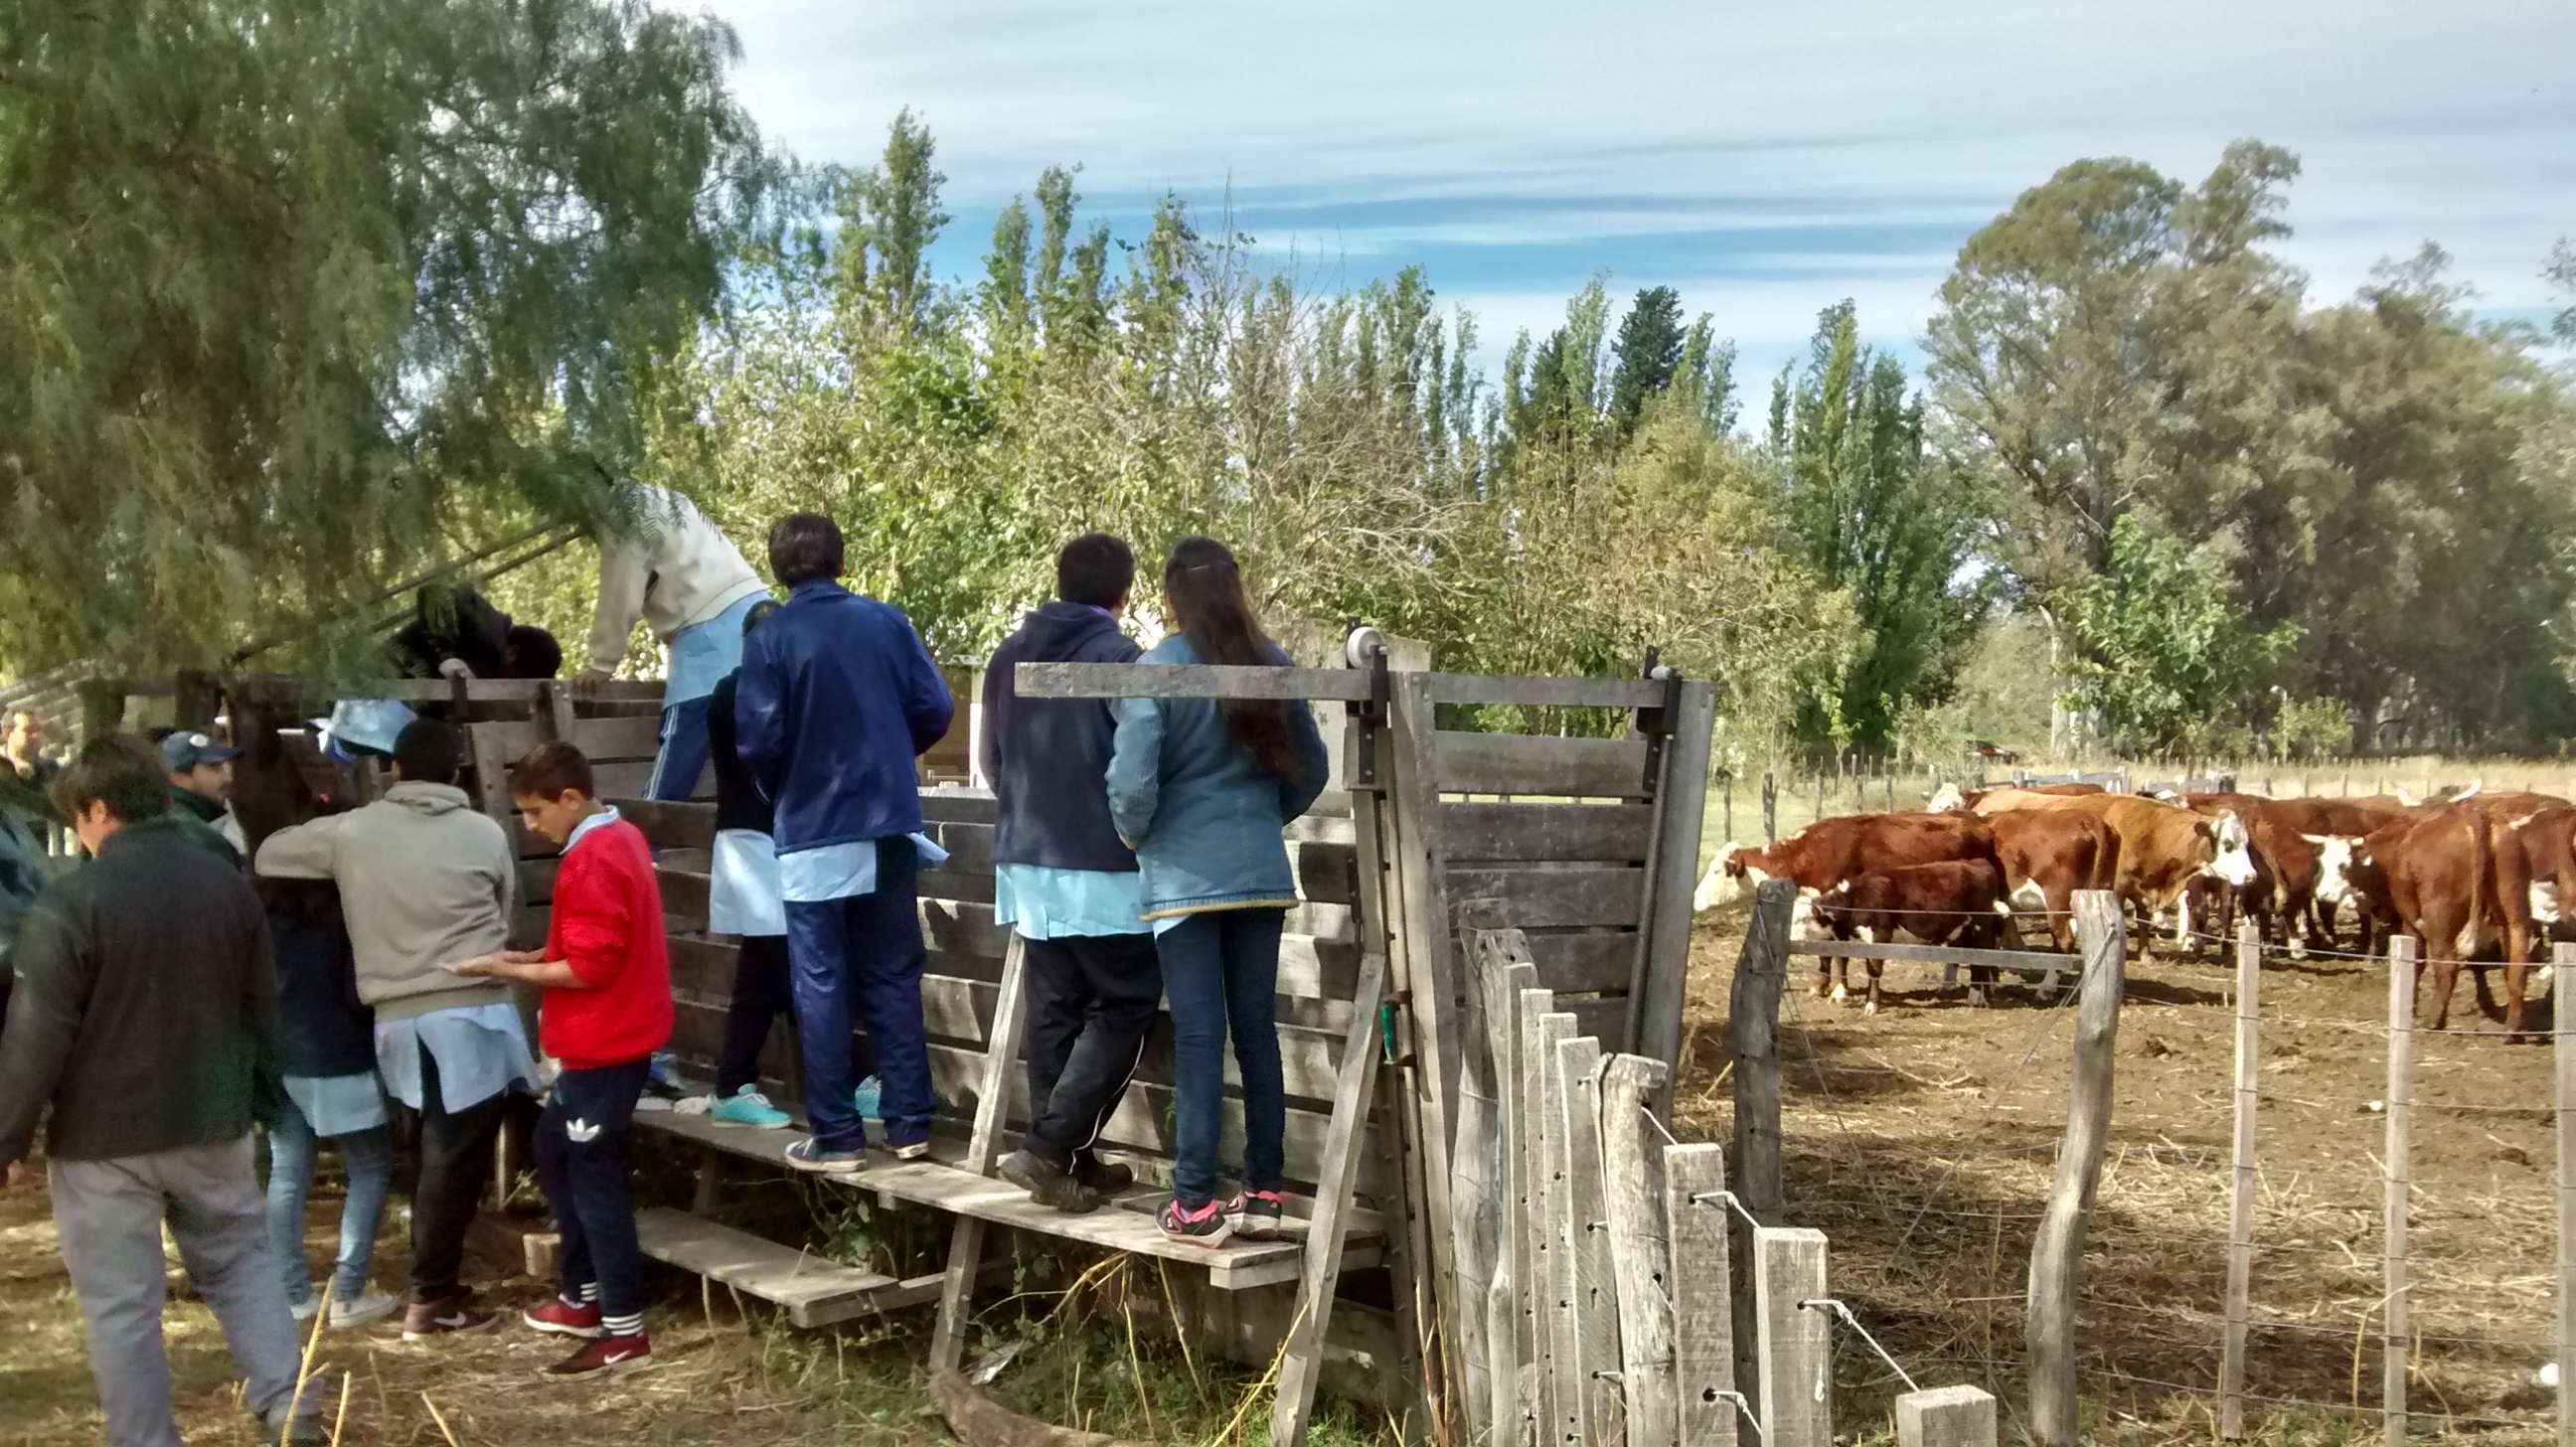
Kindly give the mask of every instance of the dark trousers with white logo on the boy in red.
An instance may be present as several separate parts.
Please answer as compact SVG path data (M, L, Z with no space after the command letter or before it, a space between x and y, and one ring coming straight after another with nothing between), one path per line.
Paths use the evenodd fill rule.
M564 1071L536 1117L536 1179L554 1208L564 1298L580 1300L582 1287L598 1285L600 1316L644 1311L644 1246L636 1241L634 1187L626 1184L626 1138L649 1071L649 1058Z

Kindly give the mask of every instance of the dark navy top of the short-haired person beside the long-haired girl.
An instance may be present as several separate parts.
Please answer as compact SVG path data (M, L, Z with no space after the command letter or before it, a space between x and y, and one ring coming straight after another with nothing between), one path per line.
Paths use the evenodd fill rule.
M1087 602L1048 602L1002 639L984 669L984 778L992 780L999 865L1133 873L1136 852L1110 821L1110 749L1118 705L1108 698L1030 698L1012 690L1015 664L1131 664L1144 649Z

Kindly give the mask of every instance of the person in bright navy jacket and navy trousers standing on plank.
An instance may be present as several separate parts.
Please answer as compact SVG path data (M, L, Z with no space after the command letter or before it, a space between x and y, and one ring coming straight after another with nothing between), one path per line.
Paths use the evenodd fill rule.
M922 919L914 891L922 826L914 760L948 734L956 700L912 621L845 590L840 528L791 512L770 528L786 608L742 641L734 736L752 783L778 806L778 888L796 976L811 1135L788 1146L804 1172L866 1166L853 1014L884 1079L886 1148L930 1153L930 1043L922 1032ZM855 1009L853 1009L855 1004Z

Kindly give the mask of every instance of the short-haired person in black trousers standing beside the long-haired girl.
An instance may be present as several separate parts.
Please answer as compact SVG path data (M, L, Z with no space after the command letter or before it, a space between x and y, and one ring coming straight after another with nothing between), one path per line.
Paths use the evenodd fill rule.
M984 775L994 798L994 919L1020 935L1030 1125L1002 1177L1038 1205L1092 1210L1136 1177L1092 1143L1118 1110L1162 1004L1136 852L1110 819L1118 711L1100 698L1018 698L1018 664L1126 664L1118 631L1136 554L1084 533L1056 554L1056 602L1020 621L984 669ZM1100 780L1100 783L1092 783Z

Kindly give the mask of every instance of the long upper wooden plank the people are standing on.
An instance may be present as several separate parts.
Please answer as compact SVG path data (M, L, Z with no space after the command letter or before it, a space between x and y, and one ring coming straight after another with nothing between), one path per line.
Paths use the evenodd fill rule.
M791 1172L786 1164L788 1143L804 1138L799 1130L744 1130L739 1125L716 1125L706 1115L680 1115L667 1110L636 1115L636 1125L778 1166L781 1174ZM930 1161L894 1161L884 1153L868 1153L866 1172L853 1177L814 1179L873 1192L886 1205L927 1205L956 1215L974 1215L976 1220L989 1220L994 1226L1015 1226L1020 1231L1084 1241L1110 1251L1133 1251L1139 1256L1206 1267L1208 1285L1218 1290L1293 1282L1306 1256L1306 1223L1298 1218L1291 1218L1283 1226L1285 1236L1278 1241L1226 1241L1213 1249L1195 1246L1190 1241L1172 1241L1159 1226L1154 1226L1151 1208L1162 1202L1154 1190L1139 1187L1100 1210L1069 1215L1028 1200L1028 1192L1005 1179L976 1177L956 1166L953 1159L963 1153L963 1143L958 1141L935 1138L933 1153L935 1156ZM1355 1210L1350 1238L1342 1246L1342 1269L1358 1272L1378 1264L1381 1241L1383 1220L1370 1210ZM768 1244L762 1241L762 1246ZM768 1249L793 1256L786 1246Z

